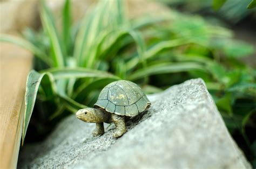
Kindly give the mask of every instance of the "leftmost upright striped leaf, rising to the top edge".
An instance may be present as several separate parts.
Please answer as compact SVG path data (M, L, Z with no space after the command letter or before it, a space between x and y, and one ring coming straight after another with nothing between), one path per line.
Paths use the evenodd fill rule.
M52 14L50 13L48 7L46 6L44 0L41 1L41 19L44 30L48 33L51 43L51 51L52 51L52 60L53 67L64 67L65 60L62 52L62 48L60 45L60 41L58 38L57 30L52 18Z

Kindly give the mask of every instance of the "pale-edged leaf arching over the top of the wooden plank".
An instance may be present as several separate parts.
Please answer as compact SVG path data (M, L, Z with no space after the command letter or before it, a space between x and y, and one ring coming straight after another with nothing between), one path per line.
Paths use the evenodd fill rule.
M40 48L31 44L29 41L26 41L22 38L18 38L15 36L6 35L6 34L0 34L0 41L5 41L8 43L21 46L26 50L30 51L31 53L35 54L35 56L41 59L42 61L44 61L45 64L48 64L49 66L51 66L52 64L49 58L47 57L47 55L43 51L41 51Z

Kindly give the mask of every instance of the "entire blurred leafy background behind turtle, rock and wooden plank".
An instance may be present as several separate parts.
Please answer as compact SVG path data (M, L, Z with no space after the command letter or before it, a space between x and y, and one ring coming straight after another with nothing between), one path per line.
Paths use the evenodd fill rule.
M42 80L35 108L26 110L33 113L25 144L42 141L60 119L92 107L114 80L131 80L153 94L202 78L256 167L256 11L247 9L250 3L1 1L0 40L31 51L39 73L68 76ZM74 76L80 68L95 76Z

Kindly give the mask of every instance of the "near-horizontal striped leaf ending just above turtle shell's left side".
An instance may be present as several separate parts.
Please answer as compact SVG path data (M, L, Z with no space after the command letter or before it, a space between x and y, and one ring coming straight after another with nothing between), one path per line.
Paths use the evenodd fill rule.
M50 72L54 78L57 79L67 79L67 78L114 78L120 79L117 76L107 73L105 71L97 71L93 69L86 68L51 68L45 69L42 72Z

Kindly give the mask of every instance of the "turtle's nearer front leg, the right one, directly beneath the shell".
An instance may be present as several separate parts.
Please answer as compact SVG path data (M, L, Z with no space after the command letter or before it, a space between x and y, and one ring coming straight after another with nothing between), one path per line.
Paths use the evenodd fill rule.
M126 132L125 121L123 116L118 116L115 114L111 115L112 122L116 125L113 137L120 137Z

